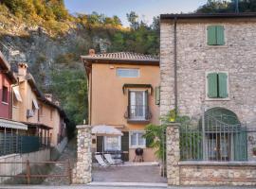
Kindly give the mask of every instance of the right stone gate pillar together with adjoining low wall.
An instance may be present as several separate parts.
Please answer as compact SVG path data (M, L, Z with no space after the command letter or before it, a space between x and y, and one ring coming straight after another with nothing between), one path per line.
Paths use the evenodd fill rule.
M179 162L179 125L166 130L168 185L256 185L256 162Z

